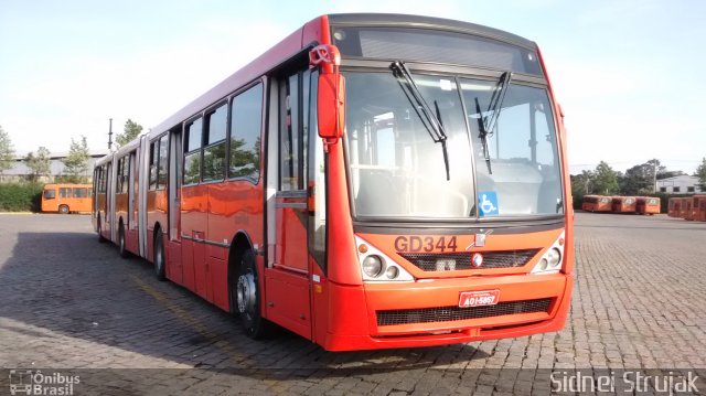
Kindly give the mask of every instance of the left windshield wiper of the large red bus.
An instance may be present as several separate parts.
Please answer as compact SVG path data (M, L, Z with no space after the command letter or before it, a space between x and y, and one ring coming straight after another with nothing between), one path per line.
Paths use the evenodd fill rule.
M403 87L403 92L405 93L405 96L407 96L407 100L409 100L419 116L419 119L421 119L421 124L424 124L427 132L429 132L431 140L434 140L435 143L441 143L443 165L446 167L446 180L450 180L449 151L446 146L447 135L443 130L443 124L441 122L441 110L439 110L439 104L435 100L434 106L436 108L436 114L431 111L431 108L425 100L424 95L421 95L417 84L415 84L414 78L411 78L411 73L409 73L409 69L407 69L407 66L403 62L393 62L389 65L389 68L393 71L393 75Z

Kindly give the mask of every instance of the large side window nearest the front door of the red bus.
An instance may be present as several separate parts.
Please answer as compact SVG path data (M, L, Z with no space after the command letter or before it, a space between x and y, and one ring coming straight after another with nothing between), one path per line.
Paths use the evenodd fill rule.
M239 94L231 104L229 178L260 176L263 84Z

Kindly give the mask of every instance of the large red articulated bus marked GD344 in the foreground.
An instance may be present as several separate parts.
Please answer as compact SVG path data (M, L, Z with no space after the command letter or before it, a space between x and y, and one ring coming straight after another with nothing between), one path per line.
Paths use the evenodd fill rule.
M93 220L252 338L557 331L574 278L561 117L532 41L323 15L99 160Z

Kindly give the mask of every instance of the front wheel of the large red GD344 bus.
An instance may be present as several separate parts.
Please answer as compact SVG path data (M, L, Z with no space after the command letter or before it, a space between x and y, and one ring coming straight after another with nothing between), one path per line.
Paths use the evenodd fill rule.
M234 302L243 324L243 331L253 340L269 335L271 323L260 312L261 292L255 264L255 254L246 249L240 256Z

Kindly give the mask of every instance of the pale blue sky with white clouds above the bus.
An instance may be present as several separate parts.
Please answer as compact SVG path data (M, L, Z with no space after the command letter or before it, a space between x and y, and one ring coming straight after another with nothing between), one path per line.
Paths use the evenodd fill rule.
M157 126L324 13L396 12L538 43L571 173L706 157L706 2L663 0L0 0L0 126L18 154L106 149L108 124Z

